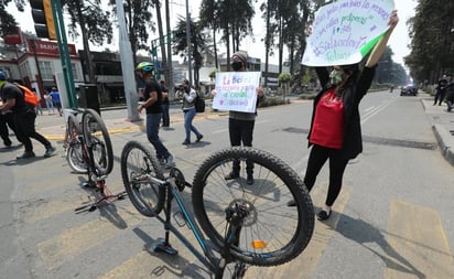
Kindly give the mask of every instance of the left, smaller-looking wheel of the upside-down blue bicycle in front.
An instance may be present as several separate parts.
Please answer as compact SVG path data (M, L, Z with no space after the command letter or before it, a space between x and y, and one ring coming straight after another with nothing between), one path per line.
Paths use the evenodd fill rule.
M137 141L126 143L121 152L121 178L134 207L149 217L160 214L165 202L165 189L148 175L164 180L158 159Z

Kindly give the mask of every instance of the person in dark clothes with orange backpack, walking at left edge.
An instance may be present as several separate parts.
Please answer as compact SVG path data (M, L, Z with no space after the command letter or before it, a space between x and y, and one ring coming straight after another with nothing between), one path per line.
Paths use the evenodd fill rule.
M35 130L35 110L26 105L24 95L21 89L15 85L6 81L4 73L0 71L0 96L2 105L0 106L0 112L11 110L14 119L14 127L18 139L24 146L24 153L17 159L29 159L35 157L33 152L33 144L30 138L40 141L44 148L44 157L51 157L55 153L55 148L51 142Z

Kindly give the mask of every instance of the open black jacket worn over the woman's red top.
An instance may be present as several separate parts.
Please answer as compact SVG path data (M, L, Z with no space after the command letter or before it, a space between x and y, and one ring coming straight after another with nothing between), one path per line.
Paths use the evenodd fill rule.
M322 85L322 90L314 98L314 106L312 110L311 129L307 135L307 139L311 137L312 127L314 124L315 109L317 107L320 98L331 88L329 84L329 72L326 67L315 68L320 84ZM349 83L349 86L343 93L344 101L344 141L339 150L342 155L346 159L354 159L360 152L363 152L363 137L361 137L361 125L359 117L359 103L366 95L367 90L372 83L375 75L375 67L364 67L355 79ZM312 143L309 142L309 147Z

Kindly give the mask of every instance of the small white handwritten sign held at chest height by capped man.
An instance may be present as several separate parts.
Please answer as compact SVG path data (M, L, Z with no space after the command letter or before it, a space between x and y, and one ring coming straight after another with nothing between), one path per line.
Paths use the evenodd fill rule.
M257 104L257 87L260 83L260 72L220 72L216 73L216 96L213 108L255 112Z

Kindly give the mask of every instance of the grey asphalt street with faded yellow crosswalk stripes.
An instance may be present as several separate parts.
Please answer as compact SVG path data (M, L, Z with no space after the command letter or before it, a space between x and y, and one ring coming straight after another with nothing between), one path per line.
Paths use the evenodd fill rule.
M309 100L263 108L256 122L255 146L279 154L301 176L311 109ZM181 144L177 107L171 128L160 131L190 182L205 158L228 146L226 114L208 110L194 121L205 136L199 143ZM17 161L21 148L0 150L0 278L210 278L173 236L179 256L150 251L164 229L156 219L141 216L129 200L75 214L93 193L82 186L84 174L72 173L66 163L63 119L44 114L37 118L39 131L57 147L57 155ZM115 148L107 183L118 193L123 190L121 149L131 139L147 144L143 122L127 121L125 109L101 116ZM361 119L365 151L348 167L332 218L316 222L310 246L295 260L275 268L251 267L246 278L454 278L454 114L432 106L426 95L377 93L365 99ZM36 154L43 154L44 148L33 143ZM326 184L324 171L311 193L316 208ZM190 193L184 192L187 201ZM181 232L194 240L186 227Z

